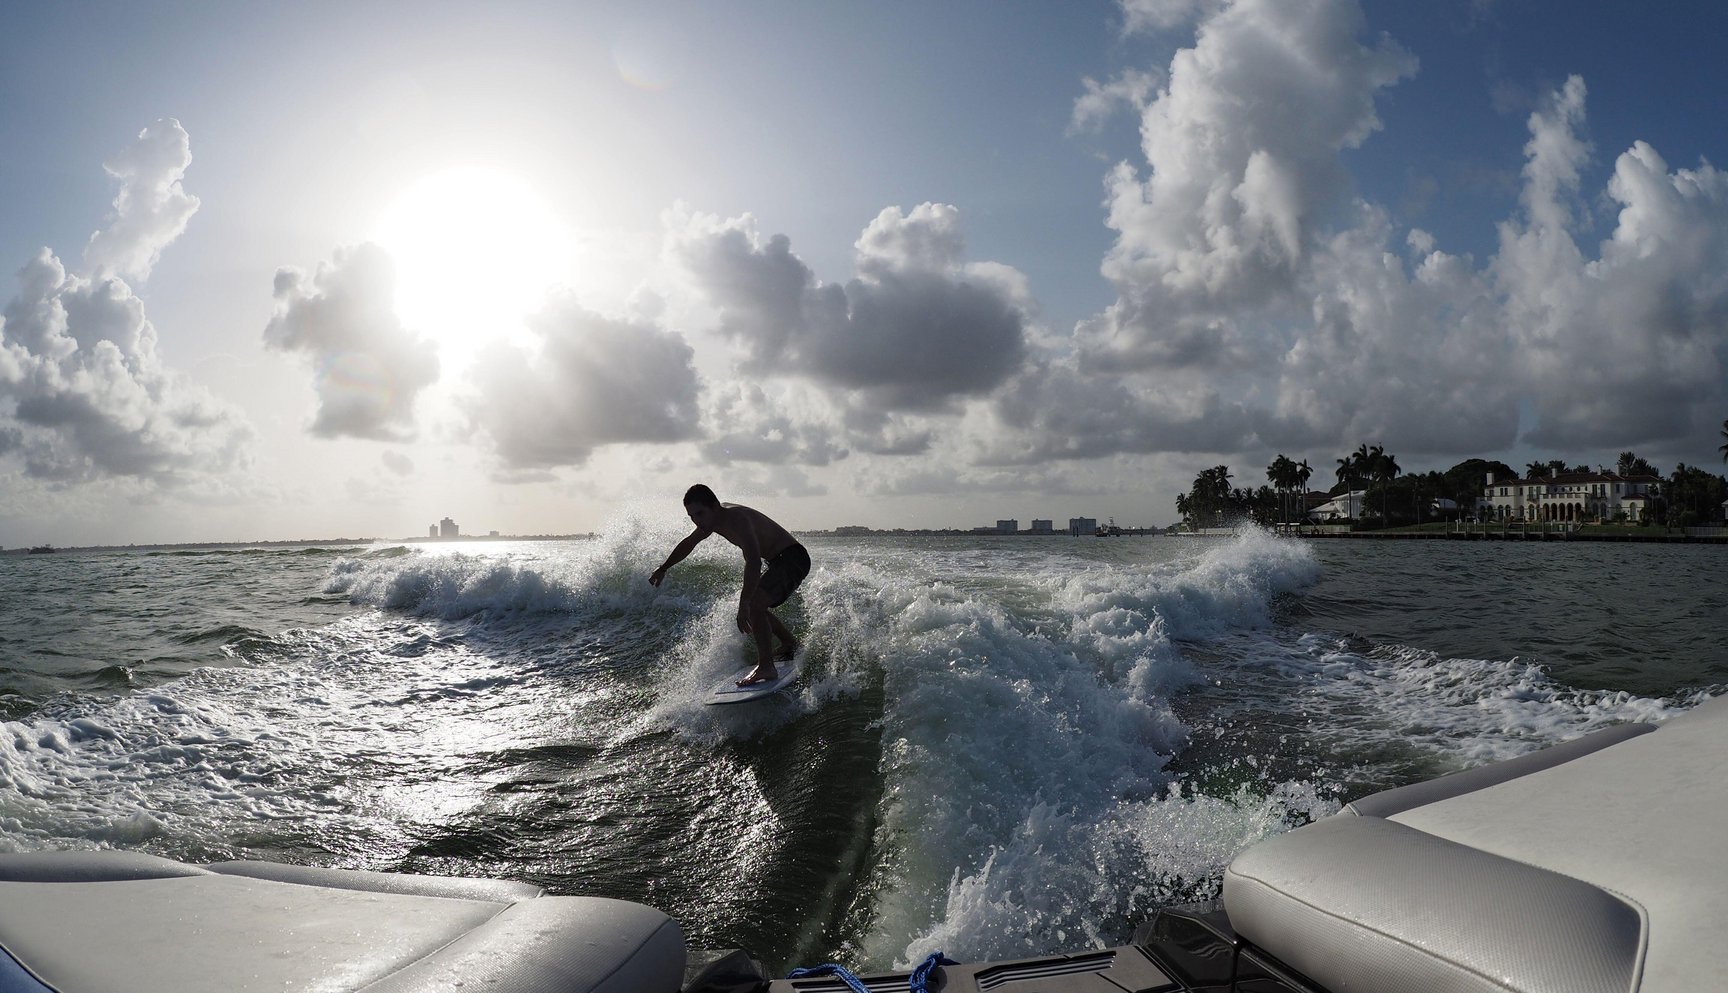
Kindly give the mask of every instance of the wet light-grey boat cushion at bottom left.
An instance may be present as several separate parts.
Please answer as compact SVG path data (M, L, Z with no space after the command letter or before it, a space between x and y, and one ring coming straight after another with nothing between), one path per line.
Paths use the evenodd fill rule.
M676 993L683 981L677 924L636 903L142 858L0 858L0 948L64 993ZM314 881L327 872L342 884Z

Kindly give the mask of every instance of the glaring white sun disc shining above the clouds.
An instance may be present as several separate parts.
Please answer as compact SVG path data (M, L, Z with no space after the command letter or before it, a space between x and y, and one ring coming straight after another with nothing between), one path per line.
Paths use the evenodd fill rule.
M458 359L517 333L570 264L569 233L546 200L482 166L406 187L372 240L396 261L396 314Z

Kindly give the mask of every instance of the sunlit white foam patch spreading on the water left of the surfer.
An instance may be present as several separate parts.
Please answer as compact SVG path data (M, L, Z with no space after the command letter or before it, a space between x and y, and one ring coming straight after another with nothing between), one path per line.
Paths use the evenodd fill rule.
M380 615L278 636L282 665L200 668L145 693L66 699L0 732L0 820L10 850L154 846L233 851L237 839L320 846L368 839L399 857L415 812L397 763L456 762L511 727L513 674L446 649L404 663ZM453 698L418 687L467 687ZM404 708L397 701L418 699ZM448 701L448 703L446 703ZM460 794L461 782L441 786Z

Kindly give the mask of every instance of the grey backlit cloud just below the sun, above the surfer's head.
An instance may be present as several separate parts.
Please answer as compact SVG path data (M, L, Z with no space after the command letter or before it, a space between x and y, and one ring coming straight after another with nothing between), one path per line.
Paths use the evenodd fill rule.
M499 345L480 357L467 402L506 473L543 473L588 461L600 446L696 437L693 351L645 319L584 309L560 294L529 319L534 347Z

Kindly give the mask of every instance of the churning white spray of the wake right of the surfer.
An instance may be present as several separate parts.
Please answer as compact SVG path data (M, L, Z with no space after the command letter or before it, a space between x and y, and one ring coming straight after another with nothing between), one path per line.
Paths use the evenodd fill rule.
M1170 701L1198 677L1170 630L1268 625L1270 601L1313 577L1303 546L1256 532L1153 566L888 591L892 881L876 888L866 955L904 962L942 941L973 957L1049 950L1056 931L1097 920L1099 893L1132 893L1144 860L1099 867L1096 855L1132 812L1161 803L1185 737Z

